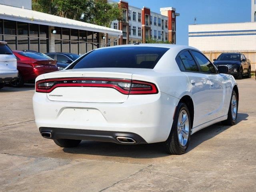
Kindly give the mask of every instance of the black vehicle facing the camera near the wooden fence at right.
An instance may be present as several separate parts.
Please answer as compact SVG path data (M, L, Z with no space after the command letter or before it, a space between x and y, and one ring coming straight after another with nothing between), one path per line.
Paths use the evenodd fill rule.
M228 66L228 74L235 78L242 79L243 76L251 77L251 64L242 53L222 53L214 59L214 65Z

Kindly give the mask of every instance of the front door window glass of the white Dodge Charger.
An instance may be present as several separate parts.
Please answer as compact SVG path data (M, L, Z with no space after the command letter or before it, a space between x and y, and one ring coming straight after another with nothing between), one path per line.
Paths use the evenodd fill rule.
M201 53L197 51L192 51L192 54L196 58L200 69L204 73L216 73L216 69L214 65Z

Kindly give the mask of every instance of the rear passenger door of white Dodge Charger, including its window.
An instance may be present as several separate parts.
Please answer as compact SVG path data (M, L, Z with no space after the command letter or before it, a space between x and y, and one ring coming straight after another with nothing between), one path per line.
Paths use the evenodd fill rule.
M196 127L209 121L210 80L206 74L200 73L189 50L181 52L176 61L180 70L188 76L190 82L191 98L194 103L193 127Z

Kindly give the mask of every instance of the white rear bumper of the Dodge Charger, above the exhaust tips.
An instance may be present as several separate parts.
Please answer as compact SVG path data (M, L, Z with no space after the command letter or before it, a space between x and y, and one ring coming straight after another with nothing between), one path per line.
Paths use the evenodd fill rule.
M50 131L59 129L58 137L64 136L62 132L66 129L67 132L74 130L73 134L65 134L68 139L74 139L76 135L76 139L81 140L117 142L113 134L122 133L143 138L139 143L154 143L168 138L178 102L178 98L162 92L129 95L123 103L50 101L46 94L35 92L33 108L37 127L50 128ZM79 132L77 130L81 130L81 134L75 134ZM111 136L91 136L98 131L114 133ZM92 134L84 137L87 132Z

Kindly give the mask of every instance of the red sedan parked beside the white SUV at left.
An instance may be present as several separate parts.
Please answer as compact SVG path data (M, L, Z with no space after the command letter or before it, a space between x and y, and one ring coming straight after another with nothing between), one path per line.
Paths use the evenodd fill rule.
M17 58L18 78L9 84L22 87L25 82L34 82L38 75L58 71L57 61L34 51L12 51Z

